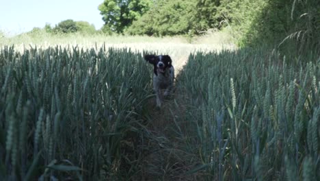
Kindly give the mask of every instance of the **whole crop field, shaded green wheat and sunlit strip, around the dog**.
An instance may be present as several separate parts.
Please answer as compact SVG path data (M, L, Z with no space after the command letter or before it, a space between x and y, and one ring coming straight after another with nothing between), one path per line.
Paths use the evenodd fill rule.
M20 38L1 43L0 180L320 178L315 53L289 60L207 38ZM161 110L146 53L180 69Z

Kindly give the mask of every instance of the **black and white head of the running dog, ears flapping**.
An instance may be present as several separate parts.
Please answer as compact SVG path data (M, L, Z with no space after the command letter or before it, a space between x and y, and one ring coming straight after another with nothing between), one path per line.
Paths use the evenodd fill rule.
M147 62L153 64L153 71L155 75L158 73L165 73L165 70L172 67L172 60L170 56L155 56L155 55L146 55L144 56Z

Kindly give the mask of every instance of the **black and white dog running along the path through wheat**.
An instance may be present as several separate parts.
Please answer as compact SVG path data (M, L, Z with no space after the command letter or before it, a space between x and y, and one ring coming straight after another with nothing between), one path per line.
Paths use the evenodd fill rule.
M164 96L170 95L174 84L174 67L170 56L146 55L144 59L153 64L153 89L157 97L157 107L161 107L161 89Z

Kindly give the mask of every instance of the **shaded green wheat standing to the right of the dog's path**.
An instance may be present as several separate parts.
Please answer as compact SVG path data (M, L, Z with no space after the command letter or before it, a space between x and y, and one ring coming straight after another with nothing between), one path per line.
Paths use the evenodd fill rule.
M285 59L262 48L189 56L176 84L189 105L177 136L199 160L189 174L319 180L319 58L299 67Z

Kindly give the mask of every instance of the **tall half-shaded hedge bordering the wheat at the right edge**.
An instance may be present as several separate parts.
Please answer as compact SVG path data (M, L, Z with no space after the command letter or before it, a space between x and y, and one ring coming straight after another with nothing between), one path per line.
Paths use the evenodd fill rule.
M218 11L224 14L225 23L241 46L279 46L282 51L297 54L319 50L317 0L223 1Z

